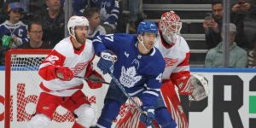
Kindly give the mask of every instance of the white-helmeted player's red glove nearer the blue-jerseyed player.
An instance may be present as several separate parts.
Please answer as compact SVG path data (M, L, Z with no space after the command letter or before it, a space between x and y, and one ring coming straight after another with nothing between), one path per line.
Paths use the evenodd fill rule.
M90 89L97 89L102 87L102 82L105 81L102 78L102 75L93 71L90 76L86 80L87 84L89 85Z

